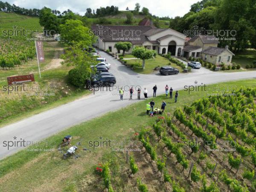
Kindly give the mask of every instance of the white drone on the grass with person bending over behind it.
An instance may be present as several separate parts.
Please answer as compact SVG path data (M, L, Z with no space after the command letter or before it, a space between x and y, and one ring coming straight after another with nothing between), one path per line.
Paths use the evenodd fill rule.
M81 142L76 143L76 145L71 145L72 136L67 135L62 140L61 145L58 148L58 151L63 154L63 159L67 159L68 157L73 157L75 160L78 159L78 157L81 157L79 154L80 151L90 151L87 148L79 147L81 145ZM69 146L68 149L65 149L66 146Z

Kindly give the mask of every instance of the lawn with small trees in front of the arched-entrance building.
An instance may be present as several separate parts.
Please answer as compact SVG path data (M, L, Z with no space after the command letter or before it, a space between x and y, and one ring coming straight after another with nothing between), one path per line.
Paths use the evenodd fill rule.
M129 56L128 56L129 57ZM137 73L143 73L143 74L149 74L154 72L154 68L157 66L166 66L169 65L170 61L167 58L164 58L160 55L157 55L157 57L154 59L148 59L145 61L145 69L142 69L142 60L140 59L131 59L126 60L128 65L133 65L133 70ZM183 69L180 66L177 66L177 64L172 63L172 67L177 68L180 70L180 72L183 71Z

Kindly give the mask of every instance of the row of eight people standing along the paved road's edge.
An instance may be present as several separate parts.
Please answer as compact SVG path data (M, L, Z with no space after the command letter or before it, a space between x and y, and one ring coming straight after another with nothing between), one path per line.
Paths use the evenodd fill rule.
M172 92L173 92L172 87L169 90L169 87L166 84L166 87L165 87L166 98L168 97L168 94L170 94L170 98L172 99ZM134 88L133 87L130 88L129 93L130 93L130 100L131 100L132 96L134 94ZM137 97L138 97L139 100L140 100L140 93L141 93L141 90L139 88L137 90ZM144 94L145 99L148 99L148 90L146 88L144 88L143 94ZM155 85L153 87L153 97L156 97L156 94L157 94L157 85ZM124 95L124 90L122 88L119 90L119 95L120 95L120 100L122 101L123 100L123 95ZM176 91L176 93L175 93L175 103L177 102L177 98L178 98L178 91Z

